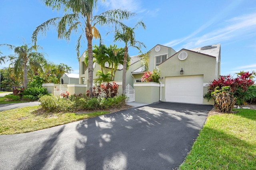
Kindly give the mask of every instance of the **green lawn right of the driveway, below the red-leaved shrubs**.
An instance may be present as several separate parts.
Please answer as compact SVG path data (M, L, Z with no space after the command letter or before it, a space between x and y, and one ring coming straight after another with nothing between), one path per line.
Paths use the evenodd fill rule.
M256 110L211 115L180 170L255 170Z

